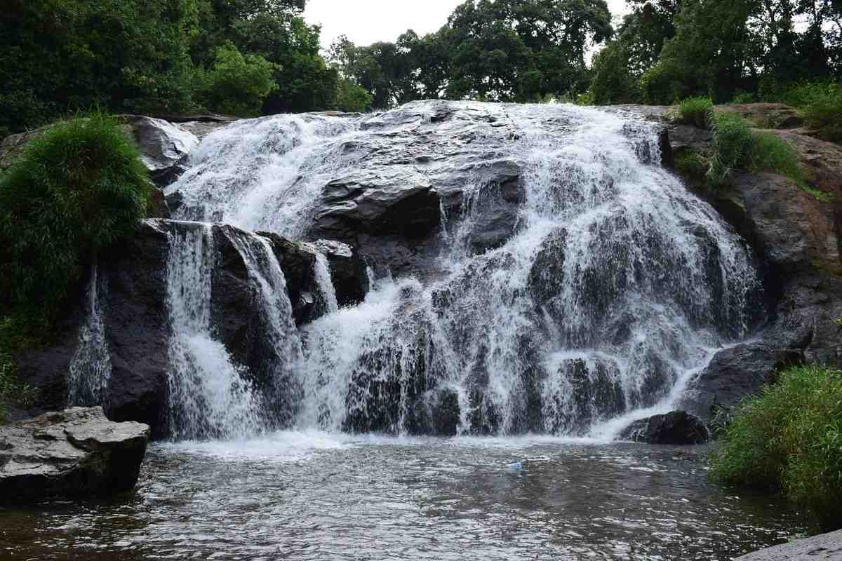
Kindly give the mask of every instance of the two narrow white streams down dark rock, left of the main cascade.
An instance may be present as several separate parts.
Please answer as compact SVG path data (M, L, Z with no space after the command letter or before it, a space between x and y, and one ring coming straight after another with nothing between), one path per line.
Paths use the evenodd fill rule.
M173 438L254 436L283 411L272 399L294 392L290 379L301 362L286 283L269 241L226 234L242 257L256 294L263 372L236 363L211 326L216 246L210 225L182 223L169 233L169 431ZM258 388L255 378L264 380Z

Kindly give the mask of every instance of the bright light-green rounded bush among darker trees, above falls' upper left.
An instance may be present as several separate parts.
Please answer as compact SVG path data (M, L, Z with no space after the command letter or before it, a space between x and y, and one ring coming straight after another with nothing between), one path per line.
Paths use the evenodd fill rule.
M216 49L216 59L205 74L200 93L207 108L223 114L254 117L264 99L278 89L277 65L262 56L243 56L232 43Z

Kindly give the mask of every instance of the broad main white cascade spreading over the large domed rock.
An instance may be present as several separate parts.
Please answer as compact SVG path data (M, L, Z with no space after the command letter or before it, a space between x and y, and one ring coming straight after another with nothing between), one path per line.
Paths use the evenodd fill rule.
M759 288L749 251L660 167L654 125L571 106L449 103L444 137L438 115L411 107L421 109L226 127L168 189L184 218L298 236L329 181L375 165L360 153L424 177L416 183L449 177L452 191L460 178L433 271L381 278L364 303L331 306L304 329L298 426L587 434L668 406L713 349L746 336ZM401 139L406 153L392 148ZM464 165L469 153L479 156ZM477 250L489 246L477 243L488 201L509 196L488 178L501 157L523 190L514 230Z

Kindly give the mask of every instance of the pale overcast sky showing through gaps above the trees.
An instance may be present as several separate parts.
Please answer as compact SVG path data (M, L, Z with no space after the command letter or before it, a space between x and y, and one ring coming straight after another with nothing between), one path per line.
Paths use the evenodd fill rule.
M465 0L308 0L310 24L322 25L322 47L339 35L355 45L394 41L407 29L424 35L447 23L447 16ZM608 0L611 13L625 10L625 0Z

